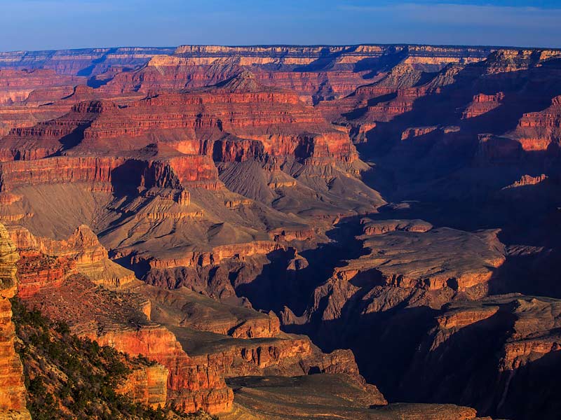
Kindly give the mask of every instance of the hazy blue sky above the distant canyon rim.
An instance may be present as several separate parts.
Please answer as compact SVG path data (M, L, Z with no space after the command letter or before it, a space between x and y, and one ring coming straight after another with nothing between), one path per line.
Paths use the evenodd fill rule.
M431 43L561 48L561 0L0 0L0 50Z

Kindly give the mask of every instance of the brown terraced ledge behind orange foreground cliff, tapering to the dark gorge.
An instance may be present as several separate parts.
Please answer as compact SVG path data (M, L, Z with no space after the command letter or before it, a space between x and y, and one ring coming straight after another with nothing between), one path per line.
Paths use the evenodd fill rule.
M191 357L198 363L210 363L224 377L254 374L293 376L309 372L342 373L365 385L353 353L337 350L322 353L308 337L286 335L279 330L278 318L252 309L234 307L210 300L185 289L161 290L136 286L135 293L149 297L154 321L175 331L184 348L193 347ZM197 331L228 335L201 335Z

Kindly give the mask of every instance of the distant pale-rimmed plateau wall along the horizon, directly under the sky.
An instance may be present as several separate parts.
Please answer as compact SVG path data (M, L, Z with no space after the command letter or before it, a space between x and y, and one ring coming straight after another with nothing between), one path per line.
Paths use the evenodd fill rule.
M363 76L404 61L419 69L441 69L449 63L484 59L492 48L421 45L249 46L183 45L173 55L152 58L136 73L120 73L107 87L112 92L135 89L181 89L211 85L251 68L266 85L295 90L309 102L344 97Z

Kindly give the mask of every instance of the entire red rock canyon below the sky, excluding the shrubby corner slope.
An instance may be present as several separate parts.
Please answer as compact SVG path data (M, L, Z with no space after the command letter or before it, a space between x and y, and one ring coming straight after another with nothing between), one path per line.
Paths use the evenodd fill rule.
M18 299L152 409L555 419L560 98L539 48L0 53L0 418Z

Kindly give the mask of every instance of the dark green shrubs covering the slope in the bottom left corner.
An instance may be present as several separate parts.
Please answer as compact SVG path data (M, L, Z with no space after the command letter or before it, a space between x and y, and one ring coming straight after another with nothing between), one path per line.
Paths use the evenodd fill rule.
M50 321L17 298L12 300L12 310L27 408L34 420L216 419L202 412L152 409L119 395L115 388L130 372L154 362L79 338L71 334L67 323Z

